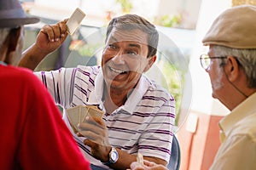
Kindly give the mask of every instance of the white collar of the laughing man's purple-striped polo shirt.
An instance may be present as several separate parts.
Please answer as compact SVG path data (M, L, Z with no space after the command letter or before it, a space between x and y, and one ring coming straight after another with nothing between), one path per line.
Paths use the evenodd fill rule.
M119 107L117 111L125 110L126 112L132 114L132 112L136 109L137 104L143 99L143 95L147 92L149 86L152 83L149 82L148 78L142 76L137 83L136 88L133 89L128 99L125 102L125 105ZM102 69L100 69L99 73L96 75L95 79L95 88L90 92L88 104L89 105L100 105L103 106L102 102L102 94L104 86L104 78Z

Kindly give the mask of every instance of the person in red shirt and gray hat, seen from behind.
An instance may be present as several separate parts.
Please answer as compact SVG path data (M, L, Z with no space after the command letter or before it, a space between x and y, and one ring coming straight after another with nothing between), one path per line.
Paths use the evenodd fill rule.
M26 17L18 0L0 0L0 169L90 169L42 82L16 67Z

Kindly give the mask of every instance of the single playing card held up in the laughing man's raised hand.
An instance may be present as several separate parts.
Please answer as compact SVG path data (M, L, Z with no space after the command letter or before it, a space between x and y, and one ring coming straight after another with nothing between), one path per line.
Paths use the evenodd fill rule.
M67 20L67 32L70 35L73 35L73 32L77 30L85 15L80 8L75 9L71 17Z

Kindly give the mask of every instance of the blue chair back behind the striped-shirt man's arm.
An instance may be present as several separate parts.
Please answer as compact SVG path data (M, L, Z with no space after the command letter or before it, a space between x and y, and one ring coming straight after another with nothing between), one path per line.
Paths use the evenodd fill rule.
M167 168L170 170L178 170L180 167L180 147L175 135L172 139L172 152Z

